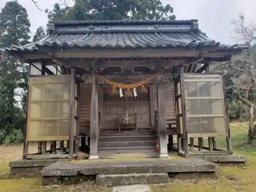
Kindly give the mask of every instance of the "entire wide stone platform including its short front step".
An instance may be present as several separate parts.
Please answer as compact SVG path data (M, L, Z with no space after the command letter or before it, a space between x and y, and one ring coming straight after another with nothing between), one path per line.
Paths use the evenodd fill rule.
M94 180L100 185L144 184L168 182L183 173L215 175L217 165L199 158L102 159L100 161L56 162L42 168L42 184L73 184Z

